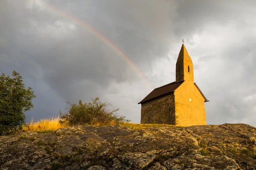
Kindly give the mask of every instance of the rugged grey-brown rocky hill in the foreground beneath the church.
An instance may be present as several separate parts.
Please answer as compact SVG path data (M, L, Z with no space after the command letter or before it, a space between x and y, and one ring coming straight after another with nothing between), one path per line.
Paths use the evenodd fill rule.
M73 126L0 136L1 170L254 170L256 128Z

